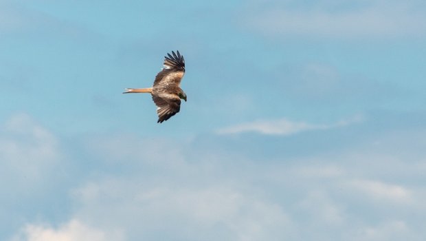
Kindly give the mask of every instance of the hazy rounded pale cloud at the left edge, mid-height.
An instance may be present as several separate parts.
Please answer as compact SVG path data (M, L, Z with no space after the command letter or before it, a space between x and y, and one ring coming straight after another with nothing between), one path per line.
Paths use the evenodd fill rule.
M3 182L18 178L21 184L34 185L62 158L56 137L27 114L12 116L0 132Z

